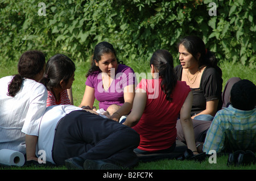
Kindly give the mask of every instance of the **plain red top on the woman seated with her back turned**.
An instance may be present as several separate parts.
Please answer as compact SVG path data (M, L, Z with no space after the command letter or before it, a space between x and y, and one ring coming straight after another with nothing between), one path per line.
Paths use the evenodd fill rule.
M162 79L142 79L136 89L147 93L147 103L139 123L133 127L141 136L139 149L157 151L170 148L176 141L176 122L180 109L191 91L185 82L177 81L172 102L160 87ZM155 86L156 85L156 86Z

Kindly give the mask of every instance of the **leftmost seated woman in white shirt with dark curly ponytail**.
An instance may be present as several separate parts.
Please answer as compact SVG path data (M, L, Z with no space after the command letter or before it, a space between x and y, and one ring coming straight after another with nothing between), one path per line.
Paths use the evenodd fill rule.
M0 150L11 149L36 160L35 149L47 91L41 83L46 64L37 50L22 54L18 74L0 79Z

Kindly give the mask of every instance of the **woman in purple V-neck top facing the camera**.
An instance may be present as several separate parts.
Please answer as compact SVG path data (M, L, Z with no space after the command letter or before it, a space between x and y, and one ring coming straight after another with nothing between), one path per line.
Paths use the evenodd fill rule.
M93 107L97 99L99 108L106 109L117 104L121 106L110 119L119 121L133 106L135 95L135 74L129 66L119 64L113 45L101 42L93 53L92 66L86 74L84 97L79 107Z

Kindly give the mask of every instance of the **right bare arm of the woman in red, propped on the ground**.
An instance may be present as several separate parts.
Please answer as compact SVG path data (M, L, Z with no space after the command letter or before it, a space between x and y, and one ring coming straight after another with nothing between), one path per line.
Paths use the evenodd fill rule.
M192 92L189 92L180 110L180 124L184 132L188 149L191 149L192 151L196 151L193 153L198 154L196 149L195 133L193 129L192 119L190 116L192 100L193 100Z

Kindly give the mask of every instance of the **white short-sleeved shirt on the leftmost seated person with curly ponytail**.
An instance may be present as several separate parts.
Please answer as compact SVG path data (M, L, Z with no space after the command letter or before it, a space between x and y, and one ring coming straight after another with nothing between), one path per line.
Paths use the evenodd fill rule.
M47 90L32 79L24 79L19 92L8 96L14 76L0 79L0 149L26 153L25 134L38 136L40 120L46 110Z

